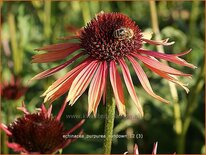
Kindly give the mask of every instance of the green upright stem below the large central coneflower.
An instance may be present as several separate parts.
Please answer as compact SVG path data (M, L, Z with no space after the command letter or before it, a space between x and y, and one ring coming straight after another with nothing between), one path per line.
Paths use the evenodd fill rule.
M112 87L108 80L107 82L107 98L106 98L106 118L105 118L105 140L104 140L104 154L111 153L112 135L114 129L115 118L115 101L112 96Z

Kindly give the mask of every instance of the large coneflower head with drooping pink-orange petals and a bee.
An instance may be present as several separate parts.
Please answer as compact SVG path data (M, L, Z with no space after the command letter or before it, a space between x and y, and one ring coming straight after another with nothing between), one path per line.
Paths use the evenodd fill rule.
M164 59L182 66L195 68L194 65L187 63L179 56L189 53L191 50L180 54L162 54L142 48L143 43L153 45L172 45L168 39L154 41L145 37L135 22L122 13L99 13L92 19L87 26L83 27L76 36L66 37L65 39L78 39L77 43L60 43L44 46L37 50L44 50L47 53L33 56L32 62L46 63L64 59L66 56L80 50L80 53L66 61L65 63L46 70L33 79L42 79L65 68L78 58L86 58L69 71L65 76L55 81L43 94L45 102L53 102L68 90L67 101L73 105L76 100L89 86L88 94L88 114L94 112L96 115L97 107L103 94L106 93L106 79L109 74L113 88L114 97L120 115L126 115L125 101L122 88L122 81L117 66L120 66L128 92L134 101L138 111L143 115L141 104L135 93L128 63L131 63L143 88L154 98L169 103L169 101L156 95L149 83L147 75L139 65L137 60L142 61L145 66L153 72L159 74L180 86L186 91L188 89L181 83L176 76L190 76L171 68L156 58Z

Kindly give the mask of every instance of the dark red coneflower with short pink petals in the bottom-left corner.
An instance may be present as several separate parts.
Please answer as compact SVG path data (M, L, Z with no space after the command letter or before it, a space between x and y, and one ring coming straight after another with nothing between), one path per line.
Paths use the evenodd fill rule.
M80 128L84 120L67 131L60 122L64 108L65 106L62 106L57 117L54 117L51 113L52 106L47 110L42 104L36 113L29 113L23 104L18 108L24 112L23 117L17 118L8 126L0 124L0 128L9 136L8 147L15 152L27 154L52 154L68 146L83 130L76 137L68 138L67 135Z

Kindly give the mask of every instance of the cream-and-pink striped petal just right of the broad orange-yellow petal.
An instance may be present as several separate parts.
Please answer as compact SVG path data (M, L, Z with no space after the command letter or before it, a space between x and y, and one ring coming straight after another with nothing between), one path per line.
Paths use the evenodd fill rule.
M76 100L82 95L82 93L86 90L97 67L98 61L92 61L74 79L66 99L67 101L70 101L69 105L73 105Z

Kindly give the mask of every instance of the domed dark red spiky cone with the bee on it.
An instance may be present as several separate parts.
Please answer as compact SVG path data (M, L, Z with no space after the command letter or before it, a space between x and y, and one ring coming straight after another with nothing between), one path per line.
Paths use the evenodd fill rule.
M80 32L81 47L98 60L118 60L142 47L135 22L121 13L99 13Z

